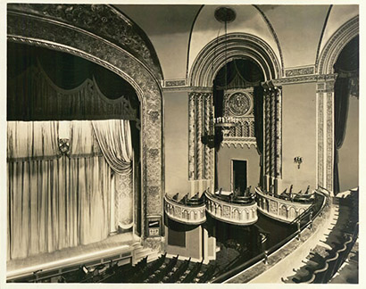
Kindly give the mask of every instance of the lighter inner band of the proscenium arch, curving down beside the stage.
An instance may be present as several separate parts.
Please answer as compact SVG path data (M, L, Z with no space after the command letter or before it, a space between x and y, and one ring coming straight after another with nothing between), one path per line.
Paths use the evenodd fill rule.
M71 5L52 5L65 9ZM79 6L79 5L73 5ZM84 6L84 5L83 5ZM90 5L85 5L90 6ZM112 9L107 5L98 5L106 11ZM96 33L79 27L78 22L60 16L59 20L47 13L35 14L34 9L45 8L45 5L27 4L12 9L8 5L7 37L8 41L46 47L95 62L108 70L112 70L135 88L140 101L141 110L141 199L142 199L142 236L146 245L160 249L160 237L147 237L146 219L149 216L162 218L162 88L154 73L145 63L130 54L119 45L106 40L96 29ZM93 9L91 9L92 11ZM113 14L115 15L115 14ZM64 16L64 15L62 15ZM95 21L100 15L82 14L82 21ZM102 16L100 16L102 17ZM104 21L98 22L103 25ZM107 24L104 24L107 25Z

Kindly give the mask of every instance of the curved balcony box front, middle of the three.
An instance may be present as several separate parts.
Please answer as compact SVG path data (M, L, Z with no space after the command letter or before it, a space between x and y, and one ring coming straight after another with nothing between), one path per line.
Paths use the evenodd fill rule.
M205 196L206 211L214 219L239 226L252 225L258 219L254 195L230 198L205 192Z

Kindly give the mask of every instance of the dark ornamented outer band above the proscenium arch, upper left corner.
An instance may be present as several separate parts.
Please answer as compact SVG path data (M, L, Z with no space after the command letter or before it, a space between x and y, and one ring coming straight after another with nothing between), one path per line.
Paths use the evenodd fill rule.
M111 5L101 4L8 4L14 12L26 12L85 29L122 47L162 79L159 60L145 32Z

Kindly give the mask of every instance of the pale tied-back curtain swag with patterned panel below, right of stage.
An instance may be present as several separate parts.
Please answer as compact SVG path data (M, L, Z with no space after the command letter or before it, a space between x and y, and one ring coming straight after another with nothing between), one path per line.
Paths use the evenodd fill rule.
M132 138L129 120L92 121L105 160L115 172L115 224L133 226Z

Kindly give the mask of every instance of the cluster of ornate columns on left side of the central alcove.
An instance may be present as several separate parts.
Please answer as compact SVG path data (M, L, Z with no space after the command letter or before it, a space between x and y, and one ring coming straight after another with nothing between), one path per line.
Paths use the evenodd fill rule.
M188 178L212 179L214 151L211 93L189 93L188 103Z

